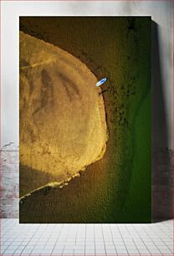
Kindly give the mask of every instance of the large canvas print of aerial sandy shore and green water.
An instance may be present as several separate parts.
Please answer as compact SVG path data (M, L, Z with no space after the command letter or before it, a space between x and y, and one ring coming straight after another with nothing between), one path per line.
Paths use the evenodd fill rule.
M20 223L151 223L151 17L20 17Z

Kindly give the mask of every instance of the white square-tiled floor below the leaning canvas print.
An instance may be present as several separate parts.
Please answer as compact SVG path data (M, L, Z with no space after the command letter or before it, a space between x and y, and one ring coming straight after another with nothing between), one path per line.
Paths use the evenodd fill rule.
M19 224L1 219L1 255L173 255L173 222Z

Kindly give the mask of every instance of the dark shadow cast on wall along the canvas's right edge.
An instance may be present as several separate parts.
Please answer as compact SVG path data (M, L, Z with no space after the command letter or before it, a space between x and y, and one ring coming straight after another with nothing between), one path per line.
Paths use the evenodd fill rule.
M159 25L151 23L151 88L152 88L152 156L151 156L151 220L169 219L172 216L171 151L166 123L164 79L160 56Z

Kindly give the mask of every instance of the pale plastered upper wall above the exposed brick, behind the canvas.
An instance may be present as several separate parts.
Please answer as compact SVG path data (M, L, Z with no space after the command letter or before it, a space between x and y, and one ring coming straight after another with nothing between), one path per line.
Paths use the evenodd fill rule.
M166 146L173 149L173 82L171 57L170 1L3 1L2 3L2 78L1 78L1 148L16 150L19 144L18 110L18 17L19 16L151 16L158 24L162 94L168 136ZM159 104L161 104L159 102ZM160 142L159 142L160 144ZM159 145L161 146L161 145ZM165 145L162 145L165 146Z

